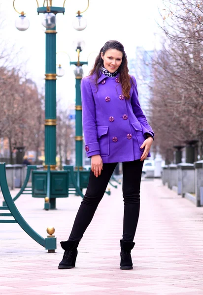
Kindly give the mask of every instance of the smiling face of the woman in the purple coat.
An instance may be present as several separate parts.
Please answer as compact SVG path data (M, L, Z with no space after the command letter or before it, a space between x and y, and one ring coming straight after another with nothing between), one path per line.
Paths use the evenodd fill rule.
M110 72L114 73L121 65L123 53L117 49L108 49L105 54L101 53L103 66Z

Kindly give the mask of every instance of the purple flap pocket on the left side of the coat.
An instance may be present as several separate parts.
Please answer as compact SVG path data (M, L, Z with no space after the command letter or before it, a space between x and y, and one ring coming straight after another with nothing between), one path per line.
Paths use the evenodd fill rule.
M109 155L109 134L108 126L97 126L98 142L100 145L100 155Z

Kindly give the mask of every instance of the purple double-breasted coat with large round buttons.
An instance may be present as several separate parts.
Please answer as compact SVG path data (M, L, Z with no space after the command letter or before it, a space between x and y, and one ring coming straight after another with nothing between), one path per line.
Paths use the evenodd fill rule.
M82 79L82 121L88 157L99 154L103 163L134 161L143 153L140 146L147 138L145 133L154 137L138 101L135 77L132 78L135 85L129 100L122 94L119 74L102 74L98 89L94 76Z

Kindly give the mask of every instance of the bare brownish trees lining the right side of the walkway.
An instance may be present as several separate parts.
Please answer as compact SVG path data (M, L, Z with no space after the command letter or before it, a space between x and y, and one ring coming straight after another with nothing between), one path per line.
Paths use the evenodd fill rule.
M151 123L155 143L169 161L173 145L192 139L199 140L203 156L203 3L198 2L164 0L169 18L162 28L167 38L152 63Z

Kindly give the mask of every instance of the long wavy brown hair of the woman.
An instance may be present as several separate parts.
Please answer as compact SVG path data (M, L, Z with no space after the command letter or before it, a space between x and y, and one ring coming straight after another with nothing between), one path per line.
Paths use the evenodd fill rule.
M92 70L90 71L90 75L96 74L96 85L97 85L98 78L102 75L102 73L100 71L101 66L103 66L103 59L101 57L101 53L103 53L103 55L104 55L108 49L116 49L116 50L121 51L123 54L121 65L119 66L117 71L118 71L118 73L120 73L120 82L121 82L123 95L127 99L129 99L130 98L130 90L131 90L131 82L133 83L133 79L131 78L131 76L128 73L129 70L128 70L127 56L124 51L124 47L120 42L118 42L116 40L110 40L104 44L104 46L100 50L99 55L97 56L97 58L95 60L95 64L94 64Z

